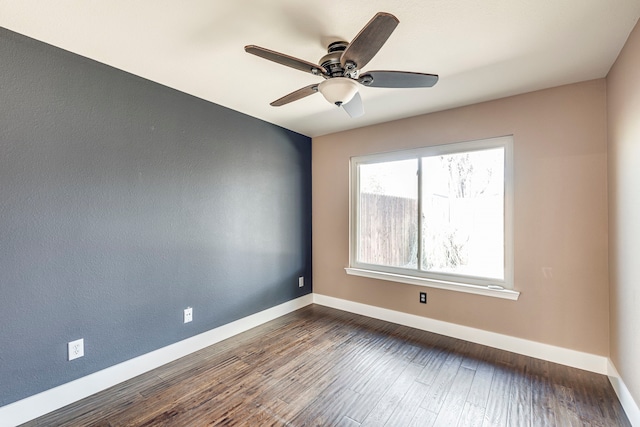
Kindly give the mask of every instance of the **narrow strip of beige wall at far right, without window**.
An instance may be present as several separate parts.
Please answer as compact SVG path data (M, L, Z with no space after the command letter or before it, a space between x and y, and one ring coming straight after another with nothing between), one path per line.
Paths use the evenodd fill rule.
M640 404L640 24L607 76L611 360Z

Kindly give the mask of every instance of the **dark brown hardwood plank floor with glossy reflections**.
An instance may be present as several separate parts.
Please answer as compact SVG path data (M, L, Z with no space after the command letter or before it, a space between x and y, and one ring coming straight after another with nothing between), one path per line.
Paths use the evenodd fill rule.
M24 426L630 426L603 375L308 306Z

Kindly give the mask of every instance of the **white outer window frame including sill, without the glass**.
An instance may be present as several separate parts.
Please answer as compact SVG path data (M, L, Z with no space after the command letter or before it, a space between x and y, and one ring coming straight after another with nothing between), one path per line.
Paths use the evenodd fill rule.
M391 162L407 159L420 159L445 154L464 153L491 148L504 148L504 280L462 276L448 273L433 273L399 267L359 263L358 251L358 204L359 204L359 165ZM422 196L420 196L422 197ZM432 145L403 151L378 153L352 157L350 161L349 185L349 267L347 274L427 286L438 289L466 292L517 300L520 293L514 289L513 281L513 136Z

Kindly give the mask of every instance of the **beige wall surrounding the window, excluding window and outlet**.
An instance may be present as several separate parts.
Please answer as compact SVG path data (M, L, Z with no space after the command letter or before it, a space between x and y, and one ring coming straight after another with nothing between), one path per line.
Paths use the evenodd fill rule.
M608 355L606 132L600 79L314 138L314 292ZM345 273L351 156L506 134L514 135L518 301Z

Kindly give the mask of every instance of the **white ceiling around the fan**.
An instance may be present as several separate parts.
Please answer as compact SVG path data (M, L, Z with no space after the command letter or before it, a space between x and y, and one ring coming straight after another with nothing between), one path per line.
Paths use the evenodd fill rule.
M357 119L319 94L269 105L322 79L245 45L317 63L379 11L400 24L364 70L435 87L362 87ZM638 17L640 0L0 0L2 27L312 137L604 77Z

